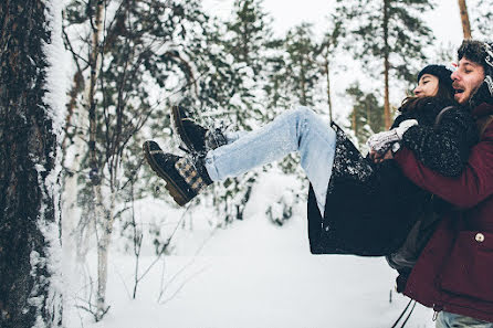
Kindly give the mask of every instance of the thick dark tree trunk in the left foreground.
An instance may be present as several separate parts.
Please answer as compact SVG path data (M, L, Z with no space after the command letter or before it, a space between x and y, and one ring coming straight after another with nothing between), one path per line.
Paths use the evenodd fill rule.
M53 245L45 235L56 242L59 234L46 179L56 155L43 102L46 1L0 2L0 327L57 327L60 294L50 293Z

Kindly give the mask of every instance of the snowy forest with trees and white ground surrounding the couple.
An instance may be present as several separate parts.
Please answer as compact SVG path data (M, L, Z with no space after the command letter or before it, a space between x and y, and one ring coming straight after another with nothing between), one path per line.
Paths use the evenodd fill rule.
M406 300L381 258L310 255L307 181L295 155L214 183L180 209L141 144L181 151L175 104L229 130L304 105L365 151L421 67L450 65L463 38L492 35L492 0L468 1L466 19L463 0L333 0L312 4L316 24L297 18L293 27L261 0L31 2L17 7L31 14L25 29L3 29L1 44L44 29L31 36L53 49L3 51L2 85L32 74L36 87L27 88L48 91L35 97L48 114L33 137L10 138L35 124L25 119L29 102L15 107L19 120L3 110L20 88L1 89L1 327L381 327L399 315ZM6 27L13 3L2 4ZM4 64L18 59L34 68ZM35 78L50 67L43 61L54 73ZM21 158L33 168L27 181ZM415 327L431 327L428 315L421 308Z

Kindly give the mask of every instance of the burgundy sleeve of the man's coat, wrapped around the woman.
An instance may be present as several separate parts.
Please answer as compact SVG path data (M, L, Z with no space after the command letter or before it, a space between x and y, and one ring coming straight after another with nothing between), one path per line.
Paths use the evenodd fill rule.
M419 161L409 149L402 148L395 160L417 186L459 208L473 208L493 194L493 124L483 133L461 174L443 177Z

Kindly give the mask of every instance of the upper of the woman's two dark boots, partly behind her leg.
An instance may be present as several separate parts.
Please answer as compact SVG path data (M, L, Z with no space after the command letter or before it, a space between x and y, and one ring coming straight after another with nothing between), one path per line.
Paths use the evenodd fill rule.
M175 131L183 141L187 150L192 154L206 154L210 149L228 144L220 129L209 130L198 125L187 116L185 108L181 106L172 106L171 118Z

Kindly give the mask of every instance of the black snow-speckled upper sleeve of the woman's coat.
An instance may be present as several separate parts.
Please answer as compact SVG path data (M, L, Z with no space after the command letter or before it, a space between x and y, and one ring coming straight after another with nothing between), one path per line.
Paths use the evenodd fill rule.
M478 142L478 128L471 114L461 108L444 112L437 127L409 128L402 145L412 150L426 167L445 177L458 177Z

